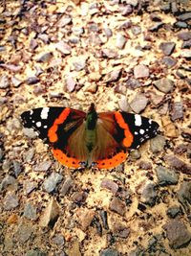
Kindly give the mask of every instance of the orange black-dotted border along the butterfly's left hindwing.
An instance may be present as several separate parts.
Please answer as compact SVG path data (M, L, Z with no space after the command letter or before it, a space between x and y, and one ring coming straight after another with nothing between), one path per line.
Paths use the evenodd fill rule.
M69 168L79 168L79 160L74 157L68 157L63 151L60 150L52 150L53 156L63 165Z

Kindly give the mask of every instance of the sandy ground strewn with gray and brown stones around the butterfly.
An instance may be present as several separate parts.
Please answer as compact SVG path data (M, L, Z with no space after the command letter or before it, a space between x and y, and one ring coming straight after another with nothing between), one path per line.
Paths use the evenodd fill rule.
M2 1L0 13L0 254L190 256L190 1ZM91 103L159 134L116 169L70 170L19 118Z

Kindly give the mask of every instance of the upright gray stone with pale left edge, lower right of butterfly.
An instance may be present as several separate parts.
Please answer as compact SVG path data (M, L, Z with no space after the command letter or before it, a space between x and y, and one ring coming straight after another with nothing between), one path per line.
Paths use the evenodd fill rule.
M154 206L156 204L157 197L157 186L154 182L150 182L144 186L140 196L140 201L150 206Z

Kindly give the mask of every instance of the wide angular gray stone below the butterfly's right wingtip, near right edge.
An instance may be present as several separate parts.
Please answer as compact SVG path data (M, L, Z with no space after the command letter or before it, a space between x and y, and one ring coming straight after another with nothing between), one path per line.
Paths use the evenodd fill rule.
M179 175L176 174L173 170L169 170L163 166L158 166L156 172L159 179L159 185L175 185L179 181Z

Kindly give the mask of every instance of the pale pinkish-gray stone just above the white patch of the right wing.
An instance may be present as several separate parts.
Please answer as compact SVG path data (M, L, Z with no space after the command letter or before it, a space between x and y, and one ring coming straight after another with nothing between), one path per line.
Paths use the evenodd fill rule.
M138 93L134 100L130 103L131 108L136 113L140 113L146 105L148 104L148 99L142 93Z

